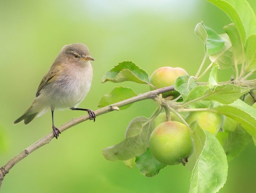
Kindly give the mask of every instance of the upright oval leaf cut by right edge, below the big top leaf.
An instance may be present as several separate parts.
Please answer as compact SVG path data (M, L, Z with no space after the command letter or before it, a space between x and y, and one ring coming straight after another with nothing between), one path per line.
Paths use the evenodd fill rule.
M245 45L245 71L256 70L256 35L251 35Z

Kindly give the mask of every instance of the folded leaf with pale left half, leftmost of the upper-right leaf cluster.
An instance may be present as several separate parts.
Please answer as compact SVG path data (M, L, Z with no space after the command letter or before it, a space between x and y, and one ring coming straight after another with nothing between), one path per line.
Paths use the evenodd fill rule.
M219 35L211 28L205 26L203 22L196 25L195 33L203 41L204 52L207 56L219 52L224 45L224 41Z

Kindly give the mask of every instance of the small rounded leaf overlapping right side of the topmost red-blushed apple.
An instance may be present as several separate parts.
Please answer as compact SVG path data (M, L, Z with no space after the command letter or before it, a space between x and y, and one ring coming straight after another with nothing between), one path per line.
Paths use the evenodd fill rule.
M174 89L179 91L182 98L185 99L192 88L196 87L197 84L193 77L188 75L178 77L174 82Z

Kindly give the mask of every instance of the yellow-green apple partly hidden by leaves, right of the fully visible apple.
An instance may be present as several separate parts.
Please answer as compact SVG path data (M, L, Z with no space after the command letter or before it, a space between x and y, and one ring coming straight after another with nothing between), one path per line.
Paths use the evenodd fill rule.
M188 124L197 120L202 129L216 136L225 122L225 116L209 111L193 111L186 116L185 120Z

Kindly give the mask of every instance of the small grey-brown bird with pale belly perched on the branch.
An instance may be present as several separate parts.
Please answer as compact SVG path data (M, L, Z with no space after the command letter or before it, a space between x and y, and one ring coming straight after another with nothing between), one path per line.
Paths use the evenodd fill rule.
M77 108L91 87L93 68L90 61L94 61L94 58L83 43L65 45L41 80L32 105L14 121L14 124L23 120L25 124L29 124L35 117L51 110L53 135L58 139L61 132L54 125L54 110L87 111L90 120L95 121L94 111Z

